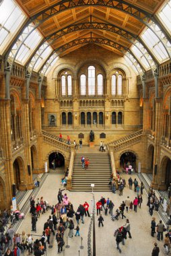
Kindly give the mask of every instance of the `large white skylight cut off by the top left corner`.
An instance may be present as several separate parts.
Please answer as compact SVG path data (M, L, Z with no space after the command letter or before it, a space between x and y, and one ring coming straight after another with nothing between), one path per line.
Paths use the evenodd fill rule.
M26 16L12 0L5 0L0 5L0 53L5 51L15 32L24 23Z

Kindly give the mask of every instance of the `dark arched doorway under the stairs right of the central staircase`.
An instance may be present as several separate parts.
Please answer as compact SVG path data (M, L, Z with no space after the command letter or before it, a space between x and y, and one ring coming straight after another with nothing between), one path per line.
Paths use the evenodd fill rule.
M124 168L125 164L133 166L133 169L136 171L136 156L133 152L125 152L121 155L120 158L120 168Z

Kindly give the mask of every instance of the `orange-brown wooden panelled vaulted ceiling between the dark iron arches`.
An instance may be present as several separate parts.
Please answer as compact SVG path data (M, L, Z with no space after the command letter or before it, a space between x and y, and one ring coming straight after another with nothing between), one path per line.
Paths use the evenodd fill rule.
M57 3L60 3L56 0L17 0L17 2L33 20L38 13L44 12L49 7L57 7ZM146 16L153 16L162 3L164 3L164 0L74 0L73 6L67 8L65 3L69 2L72 3L72 1L62 1L61 3L64 4L63 11L52 15L52 17L48 18L38 27L38 30L45 38L48 38L55 32L60 32L60 36L57 36L53 44L51 44L54 50L75 39L91 37L109 39L119 46L129 49L132 45L131 40L129 40L131 36L123 35L128 32L129 35L133 35L136 38L145 28L141 18L145 19ZM75 6L75 3L77 3L77 6ZM91 6L88 6L88 4ZM113 5L116 5L116 8L111 8ZM134 9L134 7L136 8ZM94 25L91 26L90 23ZM113 28L112 26L110 28L105 27L104 24L106 23L114 25ZM75 24L82 24L82 27L75 26L75 28L71 28ZM61 33L60 30L66 27L69 28ZM64 51L62 55L74 51L83 45L76 44L74 47ZM114 49L107 44L102 44L101 46L119 55L123 55L123 51L119 51L117 47Z

